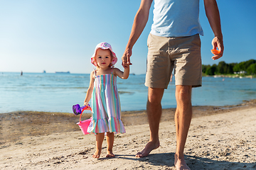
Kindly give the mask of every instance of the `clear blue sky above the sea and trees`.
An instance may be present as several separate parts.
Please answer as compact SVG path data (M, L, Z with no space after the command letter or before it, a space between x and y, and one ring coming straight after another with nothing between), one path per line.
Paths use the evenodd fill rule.
M200 0L204 36L203 64L256 59L256 1L218 0L225 51L211 59L210 29ZM116 67L126 47L139 0L0 0L0 72L90 73L95 45L109 42L116 52ZM146 39L152 11L141 37L134 45L131 73L146 72Z

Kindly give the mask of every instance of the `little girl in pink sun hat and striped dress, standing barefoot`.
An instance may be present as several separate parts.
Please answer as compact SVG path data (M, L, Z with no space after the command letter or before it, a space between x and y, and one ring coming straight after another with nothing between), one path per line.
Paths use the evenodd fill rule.
M125 132L121 121L117 77L127 79L129 66L124 67L124 72L112 67L117 62L117 57L107 42L101 42L95 47L91 62L97 69L90 74L90 85L84 104L87 106L92 98L92 121L87 129L87 132L96 134L96 152L92 157L100 157L105 134L107 134L106 157L114 157L112 152L114 133Z

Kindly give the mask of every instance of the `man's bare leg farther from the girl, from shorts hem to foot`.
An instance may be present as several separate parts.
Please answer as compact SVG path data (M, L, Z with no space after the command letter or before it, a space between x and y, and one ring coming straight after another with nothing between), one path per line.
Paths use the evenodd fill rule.
M192 86L176 86L176 153L174 165L177 170L190 170L185 162L183 152L192 118L191 91Z

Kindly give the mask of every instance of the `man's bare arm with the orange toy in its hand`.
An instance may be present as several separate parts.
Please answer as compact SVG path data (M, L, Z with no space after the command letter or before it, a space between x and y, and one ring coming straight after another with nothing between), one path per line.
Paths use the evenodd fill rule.
M213 60L217 60L223 56L224 51L223 34L220 26L220 13L218 11L218 5L215 0L204 0L204 6L210 27L212 28L215 35L215 38L213 38L212 41L213 49L218 47L218 50L220 50L218 55L214 55L212 57Z

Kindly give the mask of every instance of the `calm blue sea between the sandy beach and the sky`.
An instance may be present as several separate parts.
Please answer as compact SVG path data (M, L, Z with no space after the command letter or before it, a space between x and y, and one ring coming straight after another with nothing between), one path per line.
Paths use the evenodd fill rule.
M146 109L145 74L117 78L122 111ZM0 113L45 111L73 113L83 105L90 74L0 72ZM193 106L228 106L256 98L256 79L203 77L203 86L193 88ZM175 81L164 91L162 108L176 108Z

